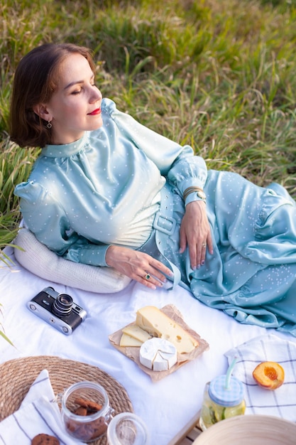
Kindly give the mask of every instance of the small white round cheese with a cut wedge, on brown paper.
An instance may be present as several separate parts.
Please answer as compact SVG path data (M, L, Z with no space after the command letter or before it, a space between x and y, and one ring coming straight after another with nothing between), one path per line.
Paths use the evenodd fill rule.
M177 363L177 349L165 338L150 338L141 345L140 363L153 371L168 371Z

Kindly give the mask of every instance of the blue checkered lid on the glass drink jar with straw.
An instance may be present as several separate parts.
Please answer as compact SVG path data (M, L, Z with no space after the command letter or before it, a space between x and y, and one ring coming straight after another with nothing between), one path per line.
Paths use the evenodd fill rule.
M209 397L223 407L234 407L243 401L243 384L231 376L226 388L226 375L219 375L209 384Z

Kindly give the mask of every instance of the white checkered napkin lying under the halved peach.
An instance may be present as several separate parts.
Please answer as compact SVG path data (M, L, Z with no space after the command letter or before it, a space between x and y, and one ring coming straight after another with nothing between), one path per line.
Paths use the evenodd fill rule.
M237 359L232 375L241 380L246 414L265 414L296 422L296 344L273 335L253 338L229 350L229 365ZM276 390L259 387L252 372L265 361L277 362L285 370L285 381Z

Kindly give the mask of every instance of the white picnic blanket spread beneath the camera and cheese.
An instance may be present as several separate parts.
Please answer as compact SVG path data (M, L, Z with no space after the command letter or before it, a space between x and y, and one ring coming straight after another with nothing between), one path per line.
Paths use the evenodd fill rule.
M13 250L6 250L12 259ZM28 311L26 304L46 286L70 294L87 311L87 319L65 336ZM126 388L133 409L151 434L151 444L168 445L192 419L202 404L204 385L228 367L227 351L258 336L273 333L296 344L296 338L270 329L238 323L234 318L199 303L189 291L152 291L136 282L116 294L62 286L36 277L17 262L0 264L0 321L14 347L0 337L0 361L31 355L57 355L96 365ZM209 350L159 382L138 368L109 343L109 335L135 320L136 311L147 304L162 308L173 304L185 322L209 343Z

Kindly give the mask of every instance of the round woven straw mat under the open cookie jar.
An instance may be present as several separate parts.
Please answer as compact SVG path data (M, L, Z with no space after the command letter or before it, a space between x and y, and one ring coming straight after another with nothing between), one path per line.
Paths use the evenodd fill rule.
M21 405L35 378L42 370L48 370L55 395L82 380L97 382L105 388L111 407L116 414L133 412L131 401L123 386L99 368L74 360L38 355L9 360L0 365L0 421L15 412ZM106 445L106 436L92 442Z

